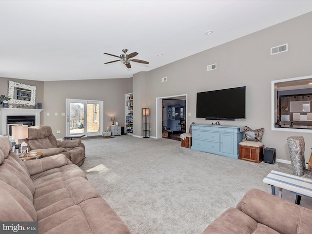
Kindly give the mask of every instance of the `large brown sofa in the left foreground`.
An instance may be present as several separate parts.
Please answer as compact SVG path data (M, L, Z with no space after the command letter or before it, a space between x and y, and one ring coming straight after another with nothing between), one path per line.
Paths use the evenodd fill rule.
M130 234L64 155L21 161L0 136L0 221L38 221L39 234Z

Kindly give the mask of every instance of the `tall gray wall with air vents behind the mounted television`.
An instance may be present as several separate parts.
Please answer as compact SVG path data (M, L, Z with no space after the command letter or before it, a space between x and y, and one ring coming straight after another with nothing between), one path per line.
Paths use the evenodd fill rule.
M252 129L264 127L263 143L265 147L276 148L277 158L284 160L290 160L286 138L302 135L306 140L306 160L309 160L311 134L271 130L271 81L312 75L310 22L312 22L312 13L150 72L135 74L133 77L134 89L144 89L147 92L145 102L149 105L147 107L151 108L151 136L156 137L156 98L187 94L188 113L191 113L191 116L186 115L187 123L190 124L193 121L195 123L211 123L211 120L196 118L196 93L246 86L246 119L220 121L221 124L247 125ZM270 55L271 47L285 43L288 43L288 52ZM213 63L217 64L217 69L207 72L207 65ZM161 82L162 77L167 77L168 81ZM141 85L141 80L145 80L148 84ZM138 85L141 87L137 87ZM141 105L141 107L143 106ZM136 114L134 113L135 119L137 118ZM134 127L139 126L134 125Z

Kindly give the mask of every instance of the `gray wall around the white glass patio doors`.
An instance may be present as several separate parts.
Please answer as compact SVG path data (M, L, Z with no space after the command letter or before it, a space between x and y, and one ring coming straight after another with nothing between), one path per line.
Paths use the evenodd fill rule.
M120 126L125 126L125 94L130 92L132 78L46 81L43 124L51 126L57 138L64 137L66 116L61 116L61 113L66 113L66 98L70 98L103 101L104 131L112 125L112 116L116 117ZM58 129L61 130L60 134L57 134Z

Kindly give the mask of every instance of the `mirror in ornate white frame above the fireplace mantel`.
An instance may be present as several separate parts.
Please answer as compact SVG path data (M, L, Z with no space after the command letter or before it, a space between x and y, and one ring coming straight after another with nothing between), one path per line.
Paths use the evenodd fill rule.
M9 104L35 105L36 86L22 84L9 80Z

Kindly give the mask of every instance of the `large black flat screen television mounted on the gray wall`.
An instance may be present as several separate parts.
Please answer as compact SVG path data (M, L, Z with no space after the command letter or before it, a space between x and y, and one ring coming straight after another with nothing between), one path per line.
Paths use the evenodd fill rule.
M196 117L235 120L246 117L246 86L197 93Z

